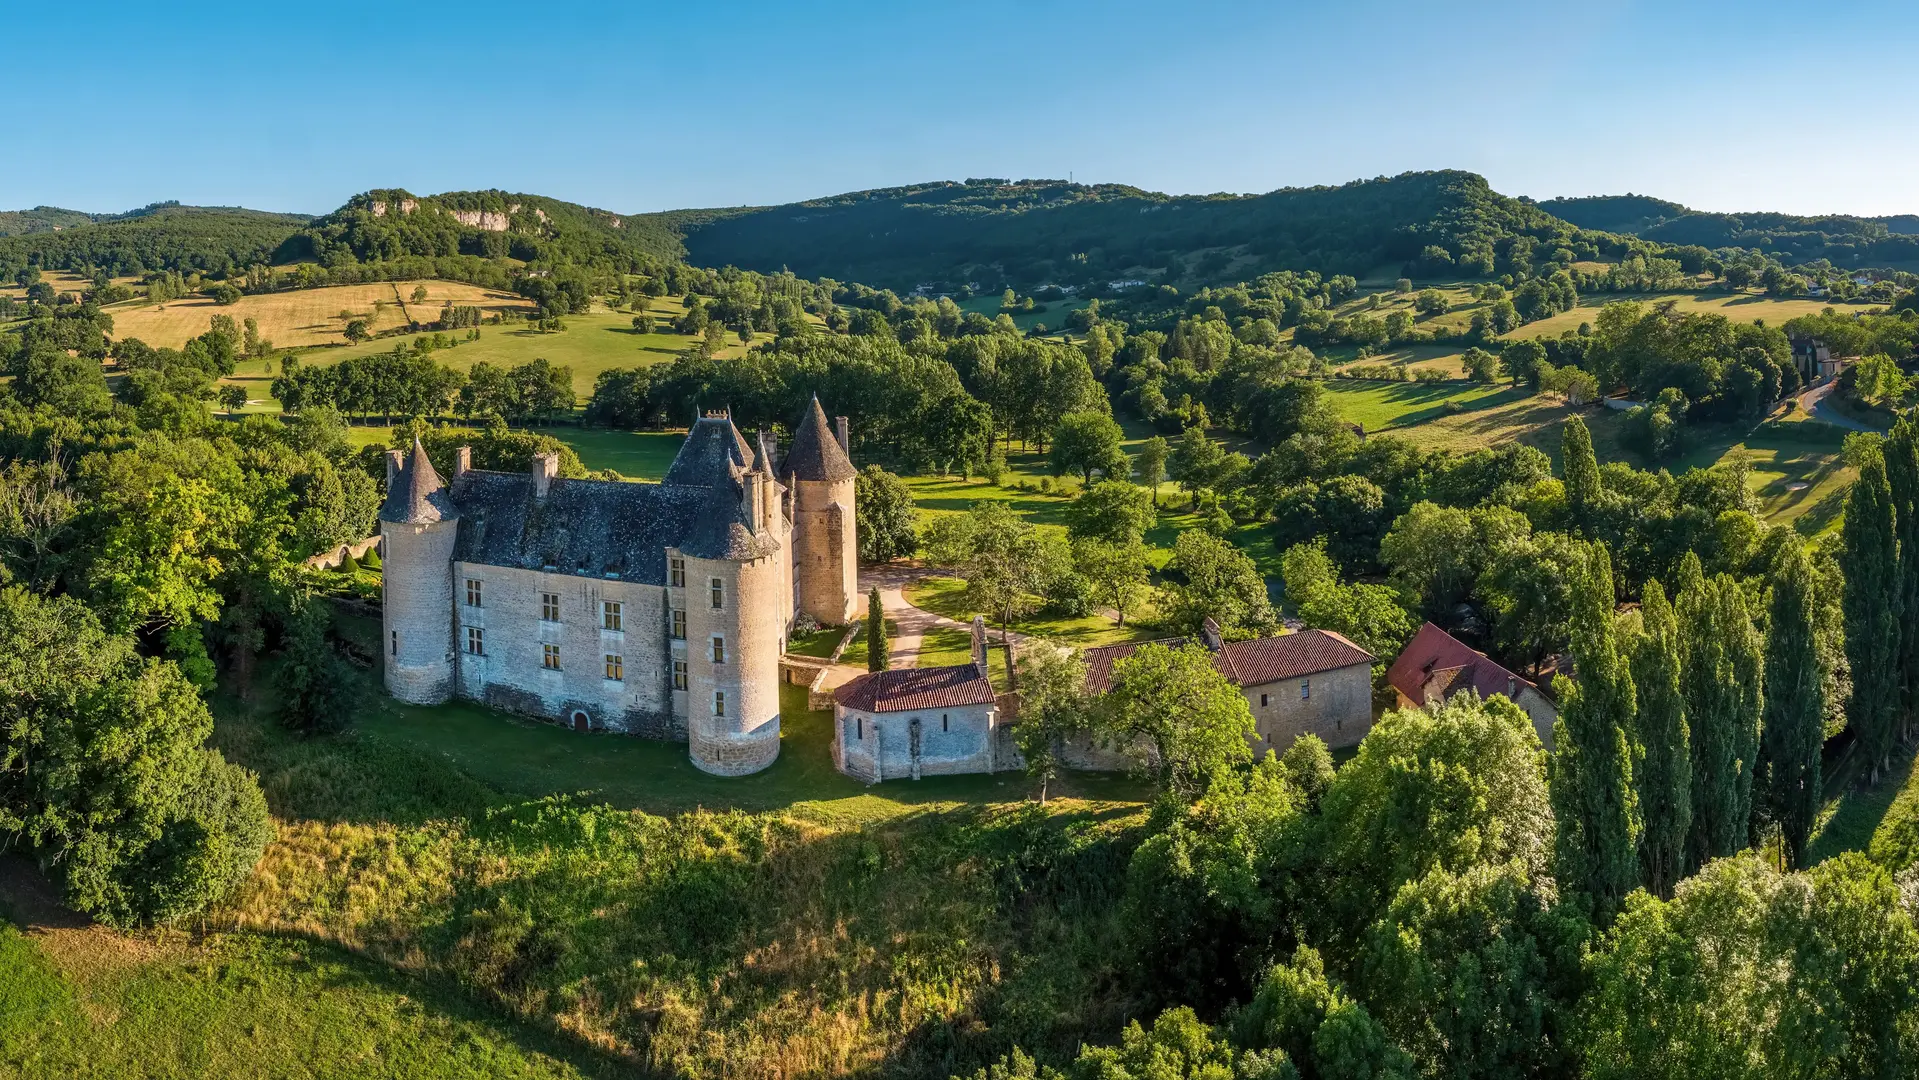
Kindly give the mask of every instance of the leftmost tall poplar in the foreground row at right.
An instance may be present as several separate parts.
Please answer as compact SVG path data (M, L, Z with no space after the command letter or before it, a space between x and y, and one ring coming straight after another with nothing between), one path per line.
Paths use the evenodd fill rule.
M1572 591L1572 652L1579 681L1554 683L1552 725L1554 877L1564 894L1585 894L1608 923L1639 882L1639 798L1633 792L1633 675L1612 612L1612 558L1587 551Z

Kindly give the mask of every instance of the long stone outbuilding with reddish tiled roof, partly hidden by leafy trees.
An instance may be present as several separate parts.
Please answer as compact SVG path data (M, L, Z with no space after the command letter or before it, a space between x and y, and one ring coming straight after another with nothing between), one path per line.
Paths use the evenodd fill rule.
M1176 637L1155 645L1180 646ZM1253 708L1253 750L1284 752L1301 735L1318 735L1326 746L1355 746L1372 731L1372 660L1364 648L1330 629L1303 629L1280 637L1222 641L1219 623L1205 620L1199 645L1213 652L1213 668L1240 687ZM1113 666L1142 643L1086 650L1086 693L1113 689ZM1077 767L1113 767L1082 756ZM1069 762L1073 763L1073 762Z

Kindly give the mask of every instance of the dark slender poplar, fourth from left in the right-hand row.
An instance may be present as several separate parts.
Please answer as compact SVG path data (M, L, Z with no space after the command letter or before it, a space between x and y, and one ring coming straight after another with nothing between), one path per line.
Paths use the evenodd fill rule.
M1779 825L1787 856L1806 856L1819 813L1819 752L1825 746L1825 671L1817 643L1817 579L1806 549L1785 545L1773 560L1765 633L1765 727L1758 802Z

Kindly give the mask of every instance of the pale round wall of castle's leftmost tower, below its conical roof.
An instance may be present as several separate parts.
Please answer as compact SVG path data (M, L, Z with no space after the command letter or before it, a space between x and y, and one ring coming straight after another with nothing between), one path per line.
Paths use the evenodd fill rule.
M386 693L403 702L453 696L453 539L457 522L380 522L380 654Z

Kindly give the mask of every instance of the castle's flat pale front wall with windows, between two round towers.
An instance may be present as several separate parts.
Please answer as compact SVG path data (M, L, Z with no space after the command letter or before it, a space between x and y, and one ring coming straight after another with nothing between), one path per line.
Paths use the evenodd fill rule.
M585 714L591 729L683 737L674 716L666 589L466 562L453 564L451 581L462 698L568 725ZM466 581L480 583L478 606L466 602ZM558 597L558 622L543 618L543 593ZM618 631L604 627L608 600L620 604ZM484 654L466 650L468 627L484 631ZM545 666L547 645L560 648L558 669ZM606 677L606 656L620 658L620 679Z

